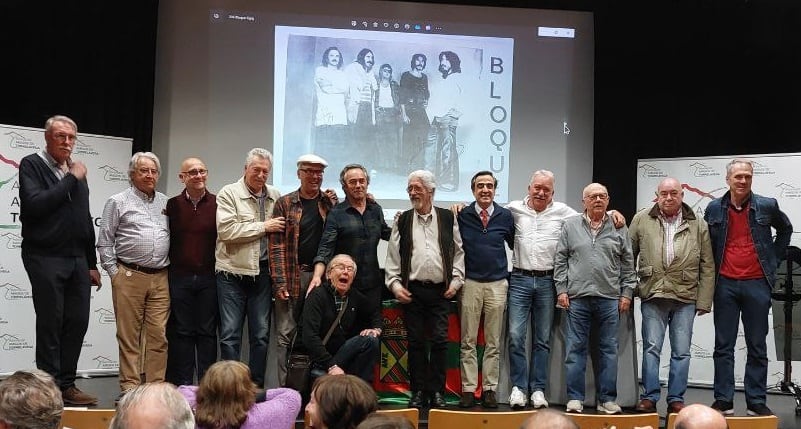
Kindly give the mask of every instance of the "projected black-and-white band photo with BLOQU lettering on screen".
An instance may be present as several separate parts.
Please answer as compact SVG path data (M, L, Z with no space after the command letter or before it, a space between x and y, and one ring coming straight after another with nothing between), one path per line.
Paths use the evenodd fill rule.
M276 185L309 152L326 186L358 163L382 199L406 199L418 169L438 200L471 200L479 170L508 183L512 39L277 26L275 40Z

